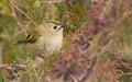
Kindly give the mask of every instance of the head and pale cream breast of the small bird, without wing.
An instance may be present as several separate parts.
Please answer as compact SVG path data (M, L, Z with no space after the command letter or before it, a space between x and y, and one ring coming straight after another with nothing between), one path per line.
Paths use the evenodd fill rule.
M38 26L40 37L36 40L36 45L41 49L45 47L48 54L58 51L63 44L64 27L64 25L55 21L41 24Z

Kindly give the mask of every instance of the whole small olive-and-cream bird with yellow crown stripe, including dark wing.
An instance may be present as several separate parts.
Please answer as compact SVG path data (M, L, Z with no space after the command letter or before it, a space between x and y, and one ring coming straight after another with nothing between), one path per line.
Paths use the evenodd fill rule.
M63 44L64 25L56 21L44 22L37 26L38 37L34 38L31 34L26 39L19 40L16 44L31 43L30 50L35 55L43 56L43 50L52 55L58 51Z

